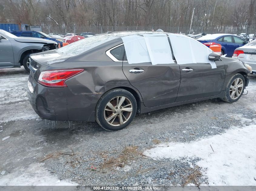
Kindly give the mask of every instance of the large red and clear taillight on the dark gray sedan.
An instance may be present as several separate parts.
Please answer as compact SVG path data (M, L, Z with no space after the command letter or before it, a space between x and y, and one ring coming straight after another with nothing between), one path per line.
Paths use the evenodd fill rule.
M48 87L67 87L65 80L71 78L84 69L47 70L40 73L38 83Z

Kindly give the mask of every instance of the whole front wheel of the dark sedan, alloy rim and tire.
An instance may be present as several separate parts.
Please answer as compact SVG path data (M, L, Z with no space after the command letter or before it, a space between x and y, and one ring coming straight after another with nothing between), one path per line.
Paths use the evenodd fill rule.
M229 81L222 100L230 103L239 100L244 92L244 84L244 76L241 74L235 74Z

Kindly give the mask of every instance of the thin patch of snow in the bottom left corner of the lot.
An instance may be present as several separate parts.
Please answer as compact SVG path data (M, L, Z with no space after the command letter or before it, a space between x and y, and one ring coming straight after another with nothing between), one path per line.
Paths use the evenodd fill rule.
M0 178L0 186L76 186L68 180L59 180L51 175L43 164L31 164L27 169L15 169Z

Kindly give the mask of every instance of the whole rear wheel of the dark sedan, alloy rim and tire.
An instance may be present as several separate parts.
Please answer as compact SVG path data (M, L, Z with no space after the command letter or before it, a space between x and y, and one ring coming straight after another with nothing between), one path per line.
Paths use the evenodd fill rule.
M109 131L128 126L137 111L135 97L127 90L113 89L98 101L95 118L98 124Z

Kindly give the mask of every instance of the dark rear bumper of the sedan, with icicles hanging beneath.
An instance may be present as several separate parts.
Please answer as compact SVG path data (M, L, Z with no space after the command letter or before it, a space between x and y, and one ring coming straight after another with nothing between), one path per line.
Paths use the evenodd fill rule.
M27 87L27 93L30 104L42 119L95 121L99 99L95 94L73 94L68 87L48 88L38 83L34 89Z

